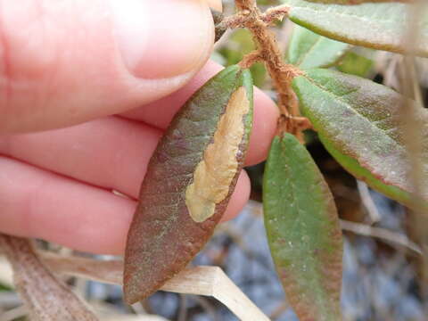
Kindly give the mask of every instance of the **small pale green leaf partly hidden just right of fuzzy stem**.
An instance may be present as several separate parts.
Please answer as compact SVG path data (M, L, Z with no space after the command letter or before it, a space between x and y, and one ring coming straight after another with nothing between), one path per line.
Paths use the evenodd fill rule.
M300 69L328 67L337 62L350 45L319 36L300 26L292 31L288 47L288 61Z

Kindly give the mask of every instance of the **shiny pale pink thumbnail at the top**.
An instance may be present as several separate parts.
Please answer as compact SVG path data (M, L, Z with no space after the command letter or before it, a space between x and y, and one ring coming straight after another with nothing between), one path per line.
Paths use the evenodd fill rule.
M205 62L214 30L205 0L111 0L114 33L137 78L170 78Z

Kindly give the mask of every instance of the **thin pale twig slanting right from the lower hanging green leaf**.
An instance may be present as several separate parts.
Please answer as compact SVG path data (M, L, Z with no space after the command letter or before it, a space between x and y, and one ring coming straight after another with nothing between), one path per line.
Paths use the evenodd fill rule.
M350 222L347 220L341 220L342 229L358 235L372 236L384 240L388 243L397 244L411 251L421 255L421 248L410 241L406 235L400 235L398 233L391 232L387 229L380 227L367 226L365 224Z

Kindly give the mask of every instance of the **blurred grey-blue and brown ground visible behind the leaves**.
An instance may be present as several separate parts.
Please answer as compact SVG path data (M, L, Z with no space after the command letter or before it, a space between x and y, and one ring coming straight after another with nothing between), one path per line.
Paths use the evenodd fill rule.
M262 9L277 4L268 0L258 3ZM233 12L233 1L225 1L225 15ZM284 53L295 28L290 21L278 23L275 28ZM227 66L240 62L243 55L253 49L251 34L244 29L235 29L227 31L218 41L212 59ZM339 62L331 68L373 79L398 91L406 81L402 56L358 46L344 50ZM420 91L416 91L418 94L414 98L424 102L428 88L427 60L417 58L415 70ZM253 65L251 72L255 84L275 100L263 65ZM343 320L427 320L426 219L350 176L325 151L315 132L307 132L306 141L332 189L342 219ZM223 268L226 275L272 320L298 320L287 303L268 251L260 203L264 164L247 170L251 176L251 201L238 218L218 226L193 265ZM59 251L53 244L46 246ZM4 266L4 260L0 260L0 321L24 320L19 310L14 310L15 316L4 312L21 305L15 292L7 284L2 284ZM128 307L122 301L119 286L76 278L70 278L69 282L97 307L106 320L237 320L218 300L209 297L157 292L148 300Z

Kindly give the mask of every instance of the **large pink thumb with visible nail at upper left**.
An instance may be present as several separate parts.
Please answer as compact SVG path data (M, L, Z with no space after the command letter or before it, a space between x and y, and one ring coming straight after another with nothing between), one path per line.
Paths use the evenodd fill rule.
M213 37L205 0L0 0L0 132L169 95L206 62Z

